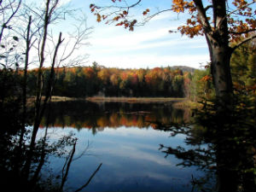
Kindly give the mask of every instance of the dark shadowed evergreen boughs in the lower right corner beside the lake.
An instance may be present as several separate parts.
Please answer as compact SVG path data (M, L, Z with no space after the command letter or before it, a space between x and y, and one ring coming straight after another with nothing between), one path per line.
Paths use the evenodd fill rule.
M160 150L182 160L177 166L197 166L206 172L205 177L191 178L201 191L256 191L255 98L240 97L235 96L233 108L224 111L218 111L216 101L204 102L193 125L159 126L172 136L187 135L185 142L193 149L160 144Z

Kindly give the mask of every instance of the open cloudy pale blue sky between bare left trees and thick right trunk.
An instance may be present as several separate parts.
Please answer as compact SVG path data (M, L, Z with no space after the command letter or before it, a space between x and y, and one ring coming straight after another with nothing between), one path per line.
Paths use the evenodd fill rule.
M105 67L139 68L189 66L199 68L209 61L207 43L204 37L193 39L180 33L169 33L183 25L188 15L177 15L166 12L154 17L145 26L135 27L129 32L122 26L106 25L96 22L96 16L90 13L90 3L96 5L111 5L111 0L64 0L70 7L82 9L87 16L88 26L93 26L93 32L88 39L90 46L79 49L90 55L89 62L96 61ZM127 3L137 0L127 0ZM171 0L144 0L133 15L143 19L143 10L150 9L150 14L158 9L171 7Z

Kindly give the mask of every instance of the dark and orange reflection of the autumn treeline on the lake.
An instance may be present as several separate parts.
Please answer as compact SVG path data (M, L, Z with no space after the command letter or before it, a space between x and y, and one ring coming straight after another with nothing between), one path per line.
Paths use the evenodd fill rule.
M93 102L57 102L49 117L49 125L55 127L87 128L93 132L102 131L105 127L118 128L154 127L156 120L168 123L181 123L184 111L174 109L172 105L162 103L93 103ZM45 125L45 119L41 126Z

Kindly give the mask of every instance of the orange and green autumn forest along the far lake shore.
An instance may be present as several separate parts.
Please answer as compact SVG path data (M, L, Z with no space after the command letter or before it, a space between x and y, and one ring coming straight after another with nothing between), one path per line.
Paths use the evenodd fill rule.
M33 94L36 69L29 71L29 91ZM67 67L56 69L55 96L186 96L188 73L171 67L119 69L107 67ZM49 69L44 69L45 81Z

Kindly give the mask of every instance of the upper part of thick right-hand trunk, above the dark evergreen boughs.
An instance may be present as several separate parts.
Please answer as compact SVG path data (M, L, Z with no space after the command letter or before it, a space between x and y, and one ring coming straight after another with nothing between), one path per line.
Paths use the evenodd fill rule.
M226 1L212 0L214 30L206 30L205 35L211 57L211 73L216 96L223 106L230 103L233 84L230 73L232 49L229 45L229 30Z

